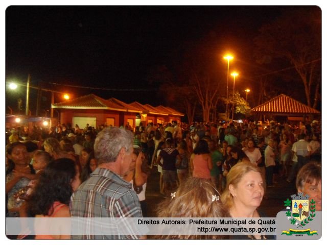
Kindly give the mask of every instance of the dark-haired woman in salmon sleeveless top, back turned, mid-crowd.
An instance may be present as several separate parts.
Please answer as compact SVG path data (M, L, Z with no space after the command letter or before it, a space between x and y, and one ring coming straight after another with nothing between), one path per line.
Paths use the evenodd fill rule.
M208 143L201 139L190 158L190 170L193 177L211 180L210 171L213 168Z

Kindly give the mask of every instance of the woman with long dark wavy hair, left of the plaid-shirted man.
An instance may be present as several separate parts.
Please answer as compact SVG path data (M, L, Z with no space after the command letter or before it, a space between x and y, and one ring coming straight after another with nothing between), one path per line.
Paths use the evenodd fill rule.
M27 202L29 213L35 217L70 217L69 199L81 183L79 174L80 169L72 159L50 162ZM37 230L36 226L36 233ZM36 235L35 239L70 239L70 235Z

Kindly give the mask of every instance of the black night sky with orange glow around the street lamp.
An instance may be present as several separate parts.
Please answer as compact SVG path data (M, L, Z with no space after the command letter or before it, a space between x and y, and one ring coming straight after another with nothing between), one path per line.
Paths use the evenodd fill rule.
M158 99L158 83L147 79L158 65L179 62L174 56L185 43L217 37L213 52L217 69L225 69L222 57L231 51L231 64L243 71L243 86L250 85L251 70L261 69L253 58L253 38L262 24L285 9L279 6L11 6L6 10L6 81L67 91L74 97L94 93L104 99L165 105ZM225 72L225 71L224 71ZM262 72L267 70L262 69ZM54 85L52 83L62 84ZM130 91L94 90L75 85ZM25 89L25 88L24 88ZM6 107L17 110L26 90L7 91ZM144 89L132 91L132 89ZM30 107L35 113L36 89ZM42 94L42 110L50 108L50 93ZM61 99L56 97L55 102ZM304 102L304 101L303 101Z

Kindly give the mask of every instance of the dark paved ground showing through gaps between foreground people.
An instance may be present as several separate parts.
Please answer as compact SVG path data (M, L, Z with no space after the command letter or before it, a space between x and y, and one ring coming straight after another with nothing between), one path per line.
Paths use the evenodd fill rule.
M276 217L276 214L283 209L284 201L290 195L296 193L295 183L289 184L286 178L279 178L276 187L267 188L267 197L261 204L261 208L267 213L268 217ZM164 198L159 193L159 173L153 167L148 178L146 200L148 204L148 217L156 217L155 208Z

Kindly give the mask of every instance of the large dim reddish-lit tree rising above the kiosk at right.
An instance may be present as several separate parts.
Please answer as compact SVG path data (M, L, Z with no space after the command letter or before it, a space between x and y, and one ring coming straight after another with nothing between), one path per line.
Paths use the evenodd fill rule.
M284 12L260 29L254 39L257 62L287 60L305 88L307 105L317 107L321 77L321 10L298 8ZM312 103L312 101L315 103Z

